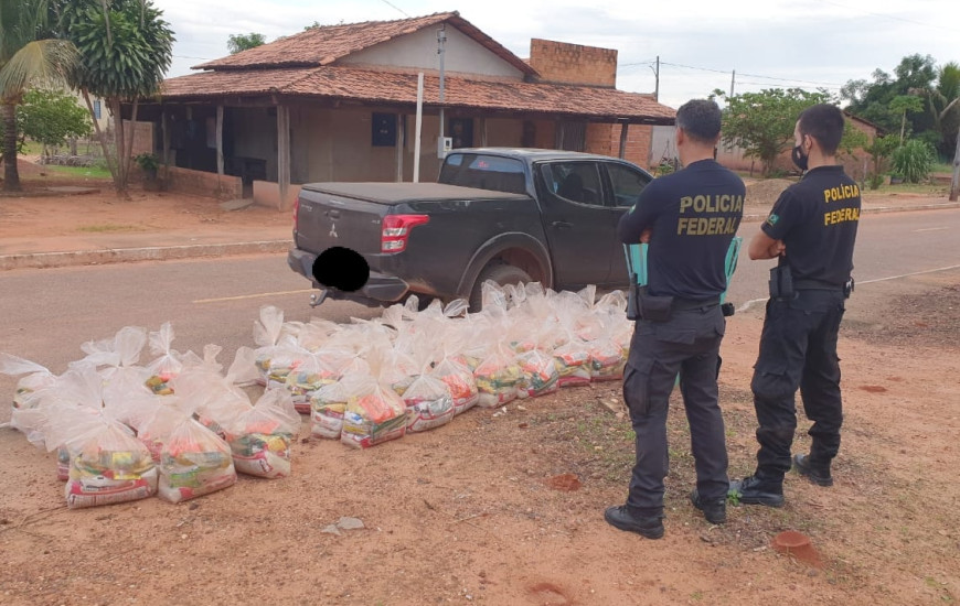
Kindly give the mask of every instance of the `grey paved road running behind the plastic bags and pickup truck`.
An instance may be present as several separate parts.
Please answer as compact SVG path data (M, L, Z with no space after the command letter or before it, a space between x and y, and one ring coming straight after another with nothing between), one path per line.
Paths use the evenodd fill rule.
M745 224L745 240L758 228ZM744 251L729 300L742 307L765 299L771 263L750 261ZM855 263L861 288L960 267L960 210L864 216ZM201 351L213 343L224 348L220 359L228 365L237 347L253 345L253 324L264 304L277 305L287 320L298 321L321 315L343 322L351 315L380 314L343 302L313 311L306 286L287 268L284 255L2 272L0 351L62 372L67 362L83 357L79 346L86 340L111 336L125 325L157 329L170 321L175 349ZM14 380L0 375L0 402L13 386ZM0 422L8 419L9 409L0 407Z

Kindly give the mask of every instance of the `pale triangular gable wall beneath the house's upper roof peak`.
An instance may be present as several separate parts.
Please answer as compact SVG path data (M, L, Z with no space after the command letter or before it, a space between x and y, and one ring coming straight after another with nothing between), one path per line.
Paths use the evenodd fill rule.
M437 28L426 28L364 51L353 53L338 61L343 65L376 65L383 67L412 67L439 69L437 55ZM522 79L523 73L491 53L486 46L463 34L452 25L447 25L444 71L502 76Z

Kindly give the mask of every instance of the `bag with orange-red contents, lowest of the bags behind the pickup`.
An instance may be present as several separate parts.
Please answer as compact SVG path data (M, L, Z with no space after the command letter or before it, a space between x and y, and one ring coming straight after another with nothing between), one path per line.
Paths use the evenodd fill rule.
M346 401L340 441L369 448L403 437L407 429L406 405L396 391L370 377Z

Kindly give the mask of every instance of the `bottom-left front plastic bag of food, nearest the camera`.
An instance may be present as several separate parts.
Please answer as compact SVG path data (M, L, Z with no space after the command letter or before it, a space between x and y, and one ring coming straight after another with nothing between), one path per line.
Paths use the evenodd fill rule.
M153 459L127 426L105 420L78 442L64 487L68 508L127 502L157 493Z

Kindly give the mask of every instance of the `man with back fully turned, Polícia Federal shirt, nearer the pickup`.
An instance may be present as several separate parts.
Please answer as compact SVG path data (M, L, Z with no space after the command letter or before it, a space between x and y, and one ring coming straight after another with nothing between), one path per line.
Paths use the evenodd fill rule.
M693 505L713 523L726 521L727 452L717 405L719 346L726 321L725 259L744 210L743 181L714 160L721 111L695 99L676 111L676 149L684 169L651 182L620 219L625 244L649 242L648 283L623 375L623 399L637 434L637 464L626 505L605 519L648 539L663 537L668 473L666 411L678 372L696 462Z

